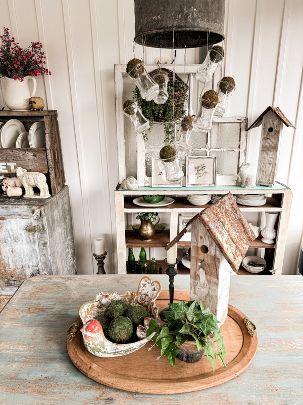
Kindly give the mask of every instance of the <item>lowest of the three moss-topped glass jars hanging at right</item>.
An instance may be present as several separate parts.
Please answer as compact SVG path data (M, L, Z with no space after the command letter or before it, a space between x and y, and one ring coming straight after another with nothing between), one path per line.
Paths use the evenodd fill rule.
M213 116L219 104L218 94L214 90L209 90L199 98L199 101L200 108L192 121L192 126L196 132L208 132L212 128Z

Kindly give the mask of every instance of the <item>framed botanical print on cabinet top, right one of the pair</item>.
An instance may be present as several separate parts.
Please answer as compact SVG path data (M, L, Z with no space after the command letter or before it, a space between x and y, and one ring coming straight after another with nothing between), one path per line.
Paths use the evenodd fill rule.
M186 187L216 185L217 156L186 156Z

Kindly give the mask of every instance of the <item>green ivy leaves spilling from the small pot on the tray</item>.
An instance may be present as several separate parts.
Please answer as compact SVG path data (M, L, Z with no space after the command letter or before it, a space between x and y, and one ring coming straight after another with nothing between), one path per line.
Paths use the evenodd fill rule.
M215 372L215 360L219 357L225 368L225 347L223 337L220 335L220 329L217 323L219 320L211 312L209 308L204 309L203 305L197 301L190 301L187 304L182 300L177 304L168 304L170 311L165 311L168 325L159 327L155 320L151 320L146 336L150 336L153 332L157 332L153 337L155 343L148 350L151 350L155 345L161 349L161 355L157 358L166 356L175 366L176 356L181 346L187 340L195 341L197 350L204 349L205 355L211 362ZM217 343L219 351L214 350L214 342L209 337L210 333L214 335L214 342Z

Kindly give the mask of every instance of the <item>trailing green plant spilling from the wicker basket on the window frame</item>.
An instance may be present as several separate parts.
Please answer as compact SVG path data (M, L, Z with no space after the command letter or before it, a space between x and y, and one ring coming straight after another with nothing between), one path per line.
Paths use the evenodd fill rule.
M182 87L175 87L175 92L182 92L184 89ZM164 119L164 132L165 132L165 140L164 143L173 143L175 140L175 124L178 124L182 121L183 117L186 115L186 110L184 109L184 104L179 103L173 107L173 93L174 88L172 86L168 86L167 92L169 94L168 100L165 104L156 104L154 100L146 101L141 97L139 89L136 87L133 91L133 99L138 101L138 105L141 108L142 114L144 117L149 119L149 129L153 127L155 122L155 118ZM188 96L185 94L185 102L187 102ZM164 105L166 110L164 109ZM178 113L181 112L181 116L179 119L176 119ZM142 135L144 141L148 140L147 134Z

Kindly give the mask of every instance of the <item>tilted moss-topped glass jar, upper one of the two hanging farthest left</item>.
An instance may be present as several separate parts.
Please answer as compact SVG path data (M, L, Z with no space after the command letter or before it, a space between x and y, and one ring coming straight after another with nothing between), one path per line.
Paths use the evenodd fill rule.
M129 66L130 62L128 62L127 66ZM137 63L129 70L127 69L127 74L138 87L144 100L151 101L159 94L159 85L149 76L143 62Z

